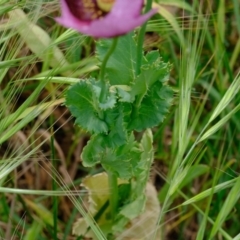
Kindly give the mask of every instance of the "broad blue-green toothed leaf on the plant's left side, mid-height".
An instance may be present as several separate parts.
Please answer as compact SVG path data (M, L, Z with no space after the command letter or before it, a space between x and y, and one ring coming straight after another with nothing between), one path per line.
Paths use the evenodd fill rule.
M76 117L76 123L83 129L93 133L108 131L92 82L79 81L70 87L66 95L66 105Z

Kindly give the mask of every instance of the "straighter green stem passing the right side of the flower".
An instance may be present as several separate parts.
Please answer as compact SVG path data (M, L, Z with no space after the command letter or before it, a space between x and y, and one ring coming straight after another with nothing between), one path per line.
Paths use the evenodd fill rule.
M145 13L147 13L152 8L152 1L153 0L147 0L147 5L145 8ZM144 36L147 28L147 22L145 22L138 35L138 43L137 43L137 62L136 62L136 75L139 75L141 72L141 66L142 66L142 58L143 58L143 43L144 43Z

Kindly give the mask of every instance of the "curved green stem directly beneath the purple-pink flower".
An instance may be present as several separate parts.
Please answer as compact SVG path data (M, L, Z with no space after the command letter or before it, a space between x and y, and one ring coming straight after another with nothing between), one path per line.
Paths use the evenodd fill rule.
M117 46L117 42L118 42L118 38L116 37L113 39L112 46L108 49L108 52L102 61L101 70L99 74L101 85L102 85L102 89L100 93L100 102L104 102L107 95L107 85L104 81L105 70L106 70L107 62Z

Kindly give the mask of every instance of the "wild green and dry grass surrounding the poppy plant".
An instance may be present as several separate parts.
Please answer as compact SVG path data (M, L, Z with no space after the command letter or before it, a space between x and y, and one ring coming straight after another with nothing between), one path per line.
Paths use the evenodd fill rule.
M175 90L153 130L162 239L240 239L239 3L159 4L145 49L172 63ZM55 23L58 1L2 0L0 14L0 237L75 239L82 215L105 239L79 188L101 169L81 166L88 136L62 105L98 71L94 40Z

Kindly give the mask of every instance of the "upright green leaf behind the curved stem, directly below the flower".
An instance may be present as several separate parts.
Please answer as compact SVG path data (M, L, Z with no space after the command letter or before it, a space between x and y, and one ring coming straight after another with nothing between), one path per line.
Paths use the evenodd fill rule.
M111 46L110 39L103 39L97 43L97 55L103 61ZM136 65L136 43L133 34L119 37L117 48L108 60L106 74L111 85L129 85L133 82Z

